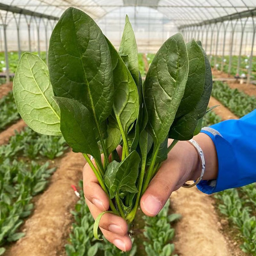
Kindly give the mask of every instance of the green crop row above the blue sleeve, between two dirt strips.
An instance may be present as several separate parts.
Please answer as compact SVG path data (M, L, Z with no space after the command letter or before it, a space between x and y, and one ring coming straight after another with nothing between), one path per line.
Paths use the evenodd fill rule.
M231 89L228 84L221 81L214 82L212 96L238 117L242 117L256 108L256 97L249 96L237 89Z

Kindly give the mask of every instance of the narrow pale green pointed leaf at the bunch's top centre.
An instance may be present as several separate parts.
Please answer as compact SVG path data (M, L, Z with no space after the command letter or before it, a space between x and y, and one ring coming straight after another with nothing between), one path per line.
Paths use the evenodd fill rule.
M128 16L125 17L124 32L121 39L119 54L130 71L136 84L139 83L138 50L135 35Z

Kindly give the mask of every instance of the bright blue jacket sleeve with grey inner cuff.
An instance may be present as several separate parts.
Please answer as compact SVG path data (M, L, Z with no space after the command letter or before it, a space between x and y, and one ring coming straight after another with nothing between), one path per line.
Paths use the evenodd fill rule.
M215 144L219 170L217 180L202 180L197 188L212 194L256 182L256 109L238 120L220 122L201 132Z

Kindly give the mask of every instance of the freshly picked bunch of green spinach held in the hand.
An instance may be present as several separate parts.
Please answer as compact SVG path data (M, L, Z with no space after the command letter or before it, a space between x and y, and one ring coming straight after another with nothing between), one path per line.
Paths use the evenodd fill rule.
M70 7L53 29L48 63L49 71L38 56L22 55L13 82L21 117L36 132L63 135L82 153L111 211L130 223L170 149L201 130L212 90L201 43L171 36L142 83L128 17L117 52L90 16ZM169 147L168 138L174 139Z

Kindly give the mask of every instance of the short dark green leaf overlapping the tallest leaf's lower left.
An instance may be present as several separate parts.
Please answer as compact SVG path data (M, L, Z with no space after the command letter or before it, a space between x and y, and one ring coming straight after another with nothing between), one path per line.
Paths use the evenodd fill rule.
M54 100L60 108L60 130L68 145L73 151L90 154L101 163L90 111L74 99L54 97Z

